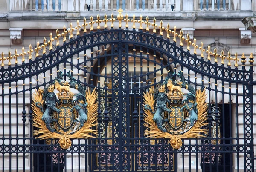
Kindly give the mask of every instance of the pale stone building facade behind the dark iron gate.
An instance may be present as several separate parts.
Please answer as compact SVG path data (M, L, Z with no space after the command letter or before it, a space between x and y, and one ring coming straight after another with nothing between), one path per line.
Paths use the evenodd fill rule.
M21 52L22 47L28 50L30 44L32 45L32 49L35 49L38 42L40 45L43 43L44 37L49 40L50 33L55 37L56 29L59 30L60 34L63 32L64 25L67 29L70 29L70 22L73 23L72 27L75 27L77 20L80 21L80 24L83 23L82 21L84 17L87 21L90 21L90 16L96 18L97 14L99 14L102 19L105 14L110 18L112 13L115 14L115 16L118 14L117 9L119 8L124 10L123 14L127 13L131 18L134 14L135 17L139 19L141 14L143 20L148 16L149 21L153 21L153 19L156 18L158 21L163 21L163 26L167 26L167 23L170 24L170 28L176 26L177 32L180 32L182 29L184 37L189 33L189 40L196 38L197 43L202 42L205 49L210 45L210 50L212 52L214 52L214 48L216 47L218 54L221 54L222 50L224 50L224 55L228 52L233 56L236 52L240 55L244 53L245 57L249 57L251 53L253 53L253 56L256 54L256 35L253 34L251 30L246 30L244 24L241 22L244 17L253 16L254 12L256 12L256 0L1 0L0 52L8 54L8 52L11 51L12 54L14 54L15 49L17 49L17 52ZM113 24L114 26L118 26L118 20L113 22ZM125 23L122 24L122 27L125 28ZM131 22L128 23L128 25L129 28L132 28ZM137 28L139 25L139 23L136 23ZM101 26L103 28L103 22L101 23ZM87 29L87 32L90 32L90 26L87 26ZM74 29L73 33L76 35L76 29ZM157 29L157 34L160 34L160 29ZM164 34L163 37L166 37L166 34ZM60 43L61 42L62 41L60 41ZM97 53L99 53L97 50L93 52L93 54ZM87 54L90 54L90 52ZM32 58L35 59L35 52L32 53L32 56ZM25 55L25 62L28 61L28 58L29 54L27 53ZM21 64L21 60L20 57L17 59L18 64ZM4 63L8 65L7 60L4 61ZM231 63L233 65L234 61ZM247 65L248 64L247 61ZM12 63L11 66L12 65L14 66L15 63ZM227 66L227 61L225 61L224 65ZM68 67L69 66L67 66L67 68ZM90 68L90 65L87 67ZM239 68L241 68L241 62L239 62ZM254 70L256 70L255 67ZM76 73L76 71L74 71L74 73ZM186 71L184 71L184 74L187 74ZM46 79L47 77L48 76L46 76ZM160 75L158 75L158 77L160 78ZM40 80L39 78L39 81L43 82L44 80ZM104 80L101 82L103 83ZM28 86L29 81L26 81L25 87ZM221 89L221 85L218 89ZM232 90L235 91L235 87L232 88ZM212 101L221 102L222 100L215 100L212 98ZM234 102L235 101L236 100L234 99ZM0 102L2 102L2 100L0 100ZM239 104L242 103L243 102L239 102ZM254 105L254 109L255 107L256 105ZM4 108L9 108L9 105L5 104ZM235 109L236 107L234 106L233 108ZM242 112L240 112L240 110L238 114L239 120L242 120ZM0 115L3 115L2 108L0 108ZM15 123L16 113L13 112L11 120L9 120L9 114L4 118L5 121ZM255 117L253 120L254 123L256 123ZM21 118L18 121L21 127ZM13 137L16 137L17 135L23 134L29 137L29 135L31 135L32 130L29 128L29 120L26 121L25 133L20 129L17 130L15 126L10 130L8 122L3 126L2 121L0 120L1 137L4 135L12 135ZM233 122L236 123L236 120L234 119ZM235 126L236 125L234 125L234 127ZM1 128L5 128L4 135ZM236 128L233 129L236 131ZM18 133L16 133L16 130ZM9 133L9 131L11 131L11 133ZM256 133L256 124L253 131ZM234 137L236 134L236 132L232 133ZM242 122L241 131L239 129L239 135L243 135ZM3 144L2 140L0 140L0 144ZM9 144L9 140L5 140L4 144ZM254 145L254 155L256 156L255 140ZM16 166L16 160L19 159L19 161L22 162L24 158L23 155L11 158L9 158L9 155L7 154L4 156L6 158L3 161L4 163L0 163L0 171L2 171L2 169L9 171L9 164L11 161L12 170L16 170L17 168L21 170L24 167L23 165L25 165L26 171L32 170L30 169L29 164L29 159L31 158L29 154L25 155L27 160L26 163L19 163L18 167ZM184 159L182 157L177 157L178 169L180 171L182 171L182 161L185 161L185 164L193 162L193 166L194 162L196 162L195 155L192 155L192 160L189 160L186 155L184 156ZM3 155L0 154L0 162L2 162L2 157ZM77 157L74 157L75 160L76 158ZM85 157L82 158L84 161ZM239 155L238 157L233 156L232 158L234 162L234 172L239 171L236 158L241 159L239 168L244 168L243 155ZM197 161L199 166L201 166L201 161L201 157L199 157ZM67 161L67 163L70 162ZM87 168L87 164L85 163L82 166ZM74 163L73 168L77 169L78 164ZM256 168L256 166L254 166L254 168ZM199 168L199 170L200 169L201 168ZM67 169L67 171L69 170L71 169Z

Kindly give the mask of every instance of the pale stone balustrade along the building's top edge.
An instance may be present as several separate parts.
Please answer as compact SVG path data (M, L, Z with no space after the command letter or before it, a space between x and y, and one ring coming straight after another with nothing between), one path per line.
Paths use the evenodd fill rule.
M10 11L236 11L251 0L10 0Z

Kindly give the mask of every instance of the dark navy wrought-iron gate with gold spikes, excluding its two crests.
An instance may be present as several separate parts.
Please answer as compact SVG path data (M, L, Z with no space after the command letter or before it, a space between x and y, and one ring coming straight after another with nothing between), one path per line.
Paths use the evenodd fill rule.
M189 35L184 50L182 31L176 33L176 27L171 31L169 24L164 30L162 21L157 36L156 20L151 23L151 30L148 17L145 22L142 17L140 20L133 17L132 30L128 29L128 16L122 22L121 11L117 16L119 29L113 28L113 15L109 19L111 29L107 29L107 16L104 20L99 16L95 21L93 17L90 19L90 33L84 19L83 34L78 22L76 35L72 25L69 32L65 26L62 34L57 31L56 47L52 45L52 34L48 43L44 39L35 49L30 46L27 63L24 49L19 55L2 54L2 171L254 171L252 55L249 63L241 57L240 68L237 54L232 58L228 53L226 66L224 54L219 58L208 47L205 55L203 43L197 56L196 39L190 51ZM95 22L97 31L93 28ZM105 29L101 29L101 22L105 22ZM140 24L138 31L136 22ZM121 29L123 24L126 29ZM167 39L163 38L163 32ZM64 44L60 46L61 35ZM180 46L176 37L180 38ZM22 64L18 63L18 57ZM14 66L12 58L16 59ZM9 60L8 67L4 60ZM231 60L235 67L231 66ZM205 137L182 139L180 149L173 149L166 138L145 137L143 94L157 92L170 73L178 79L176 74L180 71L190 86L206 89L209 124L204 126L208 131ZM96 130L91 133L95 138L73 138L68 149L59 146L59 139L40 140L33 135L40 130L33 126L32 95L39 88L49 88L59 72L63 72L63 80L72 78L83 89L96 88L98 93L97 120L91 128ZM73 89L78 90L77 85Z

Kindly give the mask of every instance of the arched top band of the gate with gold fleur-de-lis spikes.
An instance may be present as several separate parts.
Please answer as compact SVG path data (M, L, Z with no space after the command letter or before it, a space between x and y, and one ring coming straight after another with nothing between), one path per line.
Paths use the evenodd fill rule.
M175 61L175 63L182 64L183 66L186 66L186 68L204 76L223 81L232 80L233 83L249 82L249 78L251 77L250 74L253 72L254 57L252 53L248 61L250 66L249 70L246 70L246 57L244 54L242 54L240 60L242 67L238 68L239 58L237 53L234 54L235 57L231 57L230 52L228 52L227 57L225 57L223 51L222 54L217 54L216 48L214 49L214 52L210 51L210 46L208 46L206 50L204 49L202 42L200 46L196 44L195 38L192 40L192 43L191 40L189 40L189 34L187 34L187 38L185 38L183 37L182 30L180 30L180 33L177 33L176 26L174 26L174 29L171 30L168 23L167 27L165 28L162 20L158 26L156 24L156 19L154 19L152 23L149 22L148 17L146 17L145 21L143 21L142 16L140 16L139 20L136 20L135 16L130 19L128 18L128 14L126 14L125 17L122 15L122 10L119 10L119 14L117 15L119 29L114 29L113 22L115 20L116 19L114 18L113 14L111 14L111 18L109 19L105 14L103 20L100 19L99 15L97 16L97 20L93 20L93 17L90 17L90 22L87 22L86 18L84 18L82 25L79 25L79 20L77 20L77 26L75 28L73 28L72 23L70 23L70 30L68 31L64 26L64 31L61 34L57 29L55 37L53 37L52 33L50 33L49 41L47 42L44 38L44 43L40 46L40 43L38 42L35 49L32 49L32 46L30 45L28 51L25 51L23 47L20 54L17 54L17 50L15 50L14 55L12 55L12 53L9 51L7 56L2 52L0 58L0 83L10 83L25 79L27 77L32 77L33 75L57 66L64 60L67 60L67 58L72 57L74 54L84 51L85 49L90 49L94 46L116 43L133 44L143 46L148 49L154 49L157 52L166 55L166 57L171 58ZM111 22L110 29L108 29L109 22ZM122 22L125 22L125 30L121 29L123 24ZM132 30L128 29L128 22L132 22ZM95 23L97 24L97 31L93 32ZM104 23L104 30L101 30L101 23ZM139 23L138 31L136 30L136 23ZM90 26L90 33L87 34L88 25ZM153 29L149 28L150 25L153 27ZM83 35L81 35L79 31L81 27L83 27ZM160 29L160 36L157 36L156 34L157 28ZM77 37L74 39L73 31L75 29ZM153 34L150 33L151 30ZM166 34L166 39L163 38L163 34ZM68 36L70 37L69 42L67 42ZM62 46L60 46L59 43L60 37L63 37L64 44ZM54 40L56 40L57 49L52 51ZM179 44L179 46L177 44ZM186 50L184 50L184 44L186 45ZM45 51L48 46L50 50L49 54L47 54ZM197 57L197 55L199 55L199 51L200 57ZM32 60L32 52L35 52L35 60ZM38 57L39 52L43 53L41 58ZM207 61L204 60L204 53L207 55ZM28 63L25 63L26 54L29 55ZM17 59L20 57L22 58L22 64L19 65ZM214 58L215 63L211 63L212 58ZM12 66L12 59L15 59L15 66ZM219 66L217 63L219 60L221 60L221 66ZM231 67L230 63L232 60L235 62L234 68ZM8 67L5 66L5 61L8 61ZM224 66L225 63L227 63L227 67Z

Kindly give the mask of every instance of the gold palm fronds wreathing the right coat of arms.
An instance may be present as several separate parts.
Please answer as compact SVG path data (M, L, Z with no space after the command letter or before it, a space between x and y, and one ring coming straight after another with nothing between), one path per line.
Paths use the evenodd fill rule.
M207 94L205 89L196 90L196 103L198 104L198 120L195 122L194 126L191 127L191 129L181 135L172 135L168 132L161 131L153 120L154 114L150 110L143 107L143 115L145 121L143 125L146 127L146 130L144 132L145 136L148 138L169 138L171 146L173 146L175 149L179 149L179 147L181 146L182 142L180 142L180 139L205 137L204 135L202 135L202 133L207 133L207 129L201 129L201 127L208 124L205 122L207 120L208 108L208 104L205 103L206 98ZM143 100L144 106L145 104L148 104L151 109L154 109L155 100L152 93L145 92L143 95ZM173 144L173 142L176 143L176 146Z

